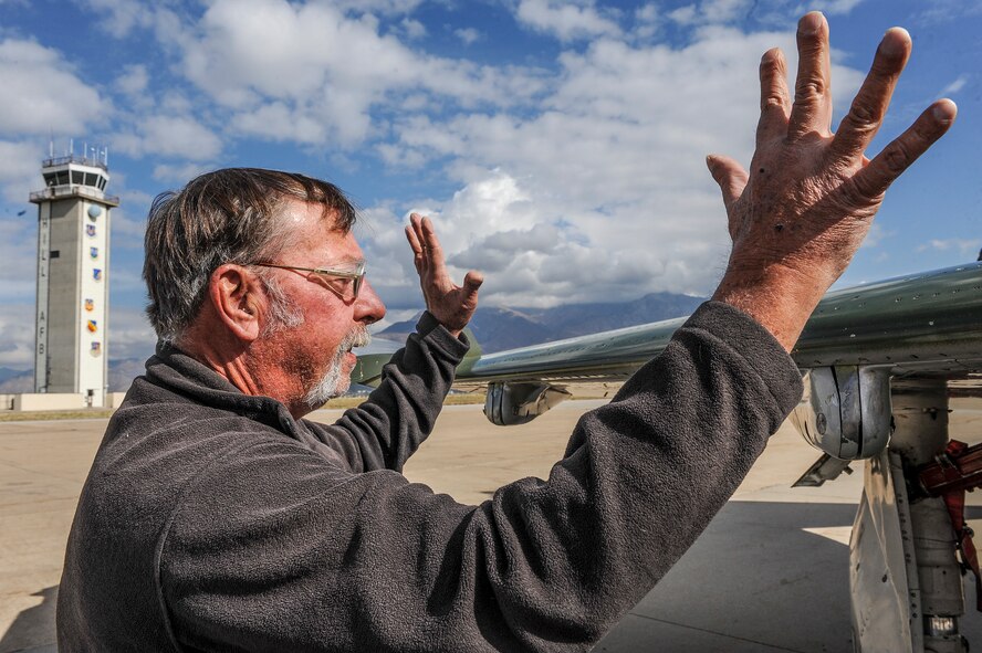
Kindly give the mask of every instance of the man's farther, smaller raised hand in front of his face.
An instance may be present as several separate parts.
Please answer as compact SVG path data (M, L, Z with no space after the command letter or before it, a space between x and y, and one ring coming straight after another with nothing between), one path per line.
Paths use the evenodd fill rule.
M412 263L419 274L419 285L426 298L426 308L455 336L459 336L478 308L478 288L484 283L480 272L471 270L458 286L447 272L443 249L429 218L409 215L406 239L412 247Z

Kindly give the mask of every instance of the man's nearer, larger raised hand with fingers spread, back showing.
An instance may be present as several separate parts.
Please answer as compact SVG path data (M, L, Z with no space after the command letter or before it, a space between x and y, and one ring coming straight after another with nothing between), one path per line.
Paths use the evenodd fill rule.
M750 171L707 158L723 193L733 250L713 295L749 313L786 349L818 299L852 261L890 183L951 126L955 106L933 103L871 160L876 135L910 56L909 34L887 31L869 74L830 130L828 24L818 12L798 22L794 103L780 50L761 61L761 118Z

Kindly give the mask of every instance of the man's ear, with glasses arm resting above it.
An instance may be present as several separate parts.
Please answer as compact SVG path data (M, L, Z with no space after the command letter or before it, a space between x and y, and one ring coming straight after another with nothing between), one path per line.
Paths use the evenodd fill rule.
M242 265L226 263L211 273L208 297L218 318L231 334L252 343L262 333L262 282Z

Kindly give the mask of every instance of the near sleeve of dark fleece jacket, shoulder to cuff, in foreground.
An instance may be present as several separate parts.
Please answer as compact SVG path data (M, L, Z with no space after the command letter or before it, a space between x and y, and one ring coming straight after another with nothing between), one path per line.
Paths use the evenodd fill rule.
M581 419L547 480L479 506L253 446L202 477L160 547L175 636L203 651L584 650L696 540L801 388L769 333L709 303Z

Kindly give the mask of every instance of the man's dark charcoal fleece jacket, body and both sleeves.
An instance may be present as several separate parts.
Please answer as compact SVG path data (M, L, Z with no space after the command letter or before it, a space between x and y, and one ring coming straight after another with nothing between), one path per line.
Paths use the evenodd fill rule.
M74 651L577 651L661 578L801 397L704 304L549 480L479 506L400 473L467 345L425 314L369 401L294 420L161 347L82 492L58 604Z

